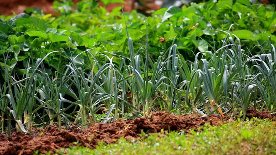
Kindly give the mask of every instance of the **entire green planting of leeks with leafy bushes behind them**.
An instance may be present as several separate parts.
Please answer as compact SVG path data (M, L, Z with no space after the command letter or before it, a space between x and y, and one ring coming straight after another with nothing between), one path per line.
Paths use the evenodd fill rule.
M91 0L70 6L56 1L58 17L1 16L2 133L14 124L24 133L34 124L86 129L160 110L243 118L249 107L276 110L273 5L209 1L148 18Z

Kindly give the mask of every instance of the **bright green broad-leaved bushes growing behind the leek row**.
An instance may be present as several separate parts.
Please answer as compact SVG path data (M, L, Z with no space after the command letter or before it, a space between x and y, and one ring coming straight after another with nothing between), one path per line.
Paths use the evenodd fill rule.
M70 0L55 1L53 8L60 16L28 9L26 13L31 16L20 14L8 20L2 18L0 43L4 52L14 53L11 59L15 58L18 62L16 67L26 67L26 58L31 55L43 58L47 53L61 49L72 57L85 49L91 49L97 57L101 57L100 53L109 57L122 55L126 29L121 8L108 13L105 8L98 7L95 0L78 2L76 10L71 10L73 6ZM271 36L272 43L276 43L274 10L273 5L252 4L249 0L219 0L192 3L182 9L173 6L163 8L148 18L136 11L125 13L125 17L136 51L145 47L144 23L147 22L150 56L157 59L172 44L177 44L184 59L193 60L199 51L216 50L220 41L228 37L239 38L235 42L246 48L262 45L263 49L255 49L255 54L266 52L269 49L268 36ZM227 35L228 30L230 33ZM87 63L82 58L77 61L80 65ZM115 57L113 61L118 64L120 59ZM46 59L45 64L49 71L54 71L58 70L60 62L68 60L55 53Z

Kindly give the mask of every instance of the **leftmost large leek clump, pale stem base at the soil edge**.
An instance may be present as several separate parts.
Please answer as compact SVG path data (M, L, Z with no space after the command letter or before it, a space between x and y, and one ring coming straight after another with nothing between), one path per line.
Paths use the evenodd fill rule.
M56 52L56 51L54 51ZM35 93L37 91L37 71L39 66L42 64L43 60L46 57L54 52L48 53L45 58L38 59L33 66L31 66L31 57L28 61L28 66L26 72L22 76L21 80L16 80L14 66L17 63L16 59L13 59L8 68L7 65L7 56L5 56L5 52L2 50L3 58L4 58L4 72L5 72L5 82L3 89L1 89L1 94L7 93L5 97L9 100L11 107L5 105L6 100L4 100L4 96L1 97L2 105L7 107L2 107L1 112L5 113L9 118L8 119L8 128L10 132L10 121L15 120L16 122L16 130L20 132L27 133L31 131L32 127L32 116L33 114L41 109L43 106L36 107L36 99ZM13 67L11 67L13 66ZM4 103L4 104L3 104ZM7 111L9 114L7 113ZM25 126L24 126L25 125ZM3 126L2 126L3 127ZM3 131L3 128L2 128Z

